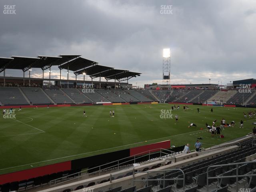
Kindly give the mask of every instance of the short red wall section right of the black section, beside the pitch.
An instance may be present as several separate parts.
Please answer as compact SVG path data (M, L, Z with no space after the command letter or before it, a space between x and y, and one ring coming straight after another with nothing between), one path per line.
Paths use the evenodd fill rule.
M144 145L144 146L140 146L140 147L134 147L134 148L130 148L130 156L136 155L136 154L147 154L148 150L152 150L152 152L156 152L156 151L160 151L159 148L163 148L163 149L169 149L171 146L171 140L167 140L167 141L162 141L162 142L158 142L158 143L153 143L153 144L148 144L148 145ZM154 150L156 149L156 150ZM142 153L145 152L145 153Z

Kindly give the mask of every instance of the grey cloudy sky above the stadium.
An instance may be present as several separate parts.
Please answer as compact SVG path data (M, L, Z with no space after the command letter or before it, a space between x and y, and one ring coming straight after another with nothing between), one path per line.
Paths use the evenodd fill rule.
M16 14L3 14L4 5ZM168 5L171 14L161 14ZM143 85L162 82L162 49L170 48L172 84L256 78L255 0L1 0L0 9L1 57L81 54L141 72L130 82Z

